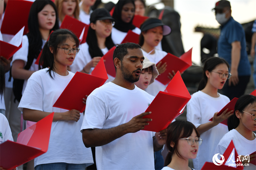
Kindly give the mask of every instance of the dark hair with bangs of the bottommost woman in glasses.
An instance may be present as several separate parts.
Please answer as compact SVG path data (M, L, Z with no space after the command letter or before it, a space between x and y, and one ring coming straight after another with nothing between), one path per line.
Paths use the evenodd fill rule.
M200 137L200 134L197 131L195 125L193 125L193 123L191 122L176 120L168 126L166 147L169 152L166 156L164 166L167 166L171 163L171 158L174 152L176 152L179 158L182 158L178 151L178 141L180 138L186 138L191 136L193 130L196 131L197 137ZM174 142L174 147L171 147L171 142Z

